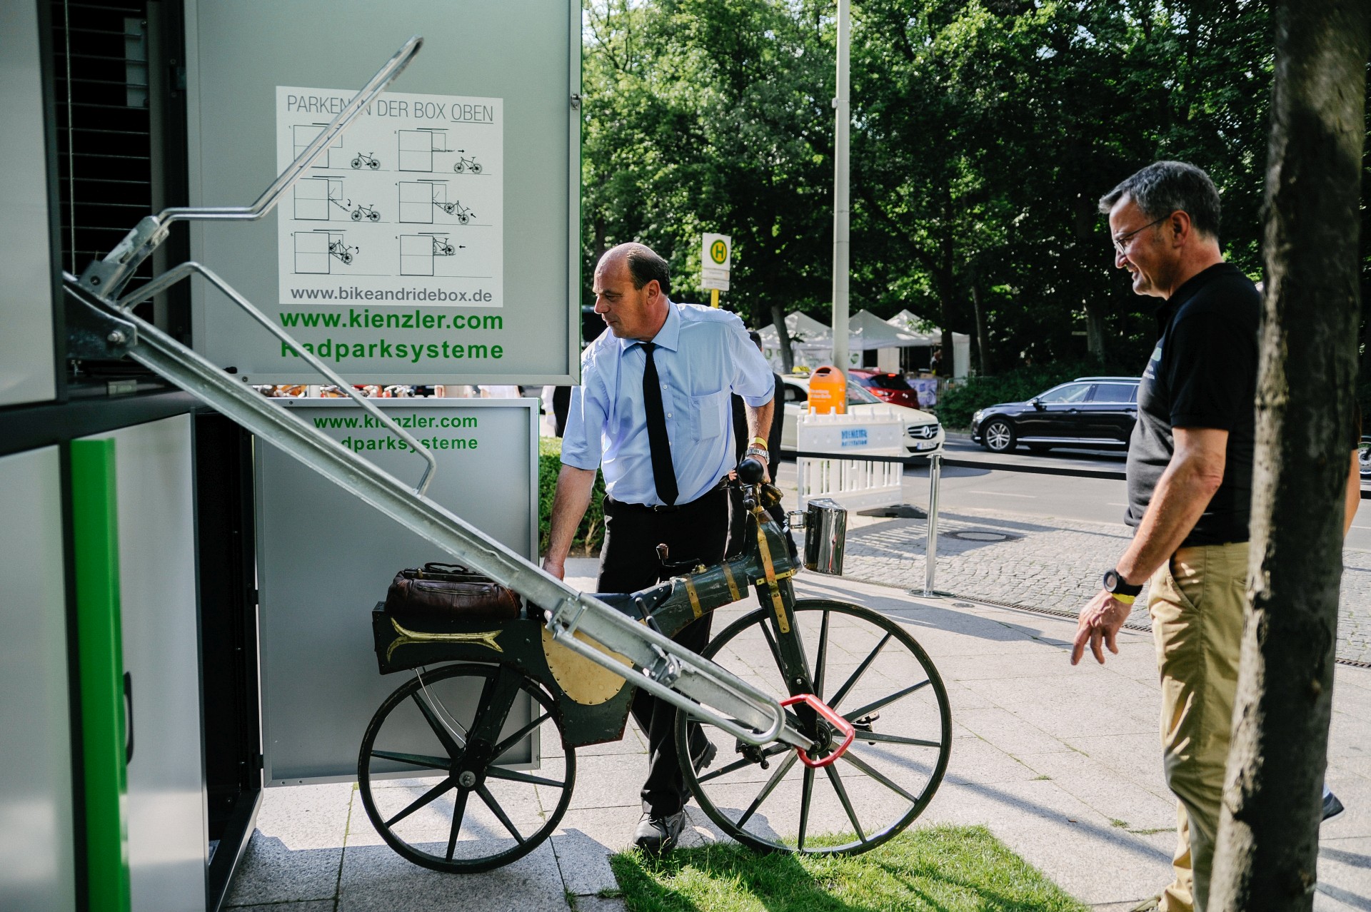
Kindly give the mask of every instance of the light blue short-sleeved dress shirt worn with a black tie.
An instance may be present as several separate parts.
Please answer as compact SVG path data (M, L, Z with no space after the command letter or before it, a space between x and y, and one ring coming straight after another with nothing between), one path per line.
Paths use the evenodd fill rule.
M749 405L765 405L775 393L772 371L743 320L712 307L668 301L666 322L653 342L680 490L676 503L688 504L733 468L729 393ZM581 385L572 388L566 414L562 461L600 468L614 500L658 505L643 409L646 363L638 340L607 330L585 346Z

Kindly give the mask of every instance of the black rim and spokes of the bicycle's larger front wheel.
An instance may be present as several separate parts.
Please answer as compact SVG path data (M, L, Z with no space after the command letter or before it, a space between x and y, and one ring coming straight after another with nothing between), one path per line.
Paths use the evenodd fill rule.
M817 620L814 620L816 615ZM842 682L836 686L832 686L832 679L839 678L839 675L835 674L835 668L831 667L834 663L829 660L829 653L836 646L834 637L829 635L831 633L836 633L831 630L834 627L834 618L840 618L845 630L853 624L872 629L865 637L861 637L862 645L858 648L861 655L856 656L858 659L856 668L847 674L842 674ZM710 767L696 774L688 763L690 749L686 734L687 723L694 719L686 712L677 712L677 755L686 782L699 802L701 809L720 830L743 845L761 852L860 854L875 849L877 845L903 831L923 813L938 791L938 786L942 783L943 774L947 770L947 759L951 753L951 708L947 701L947 690L928 653L898 623L877 612L840 601L802 598L795 603L797 631L802 624L806 627L808 634L813 634L817 629L814 645L805 644L806 661L812 668L812 674L810 670L802 672L812 692L817 693L825 701L831 701L829 705L838 709L849 722L869 718L872 713L888 711L893 707L898 708L903 701L919 700L925 704L917 708L919 731L906 733L901 730L898 734L891 733L888 729L890 722L882 723L877 718L869 723L869 730L858 729L851 748L834 765L818 770L802 765L798 761L794 748L780 744L764 745L760 750L771 768L762 771L755 761L736 752L738 744L732 737L724 735L724 733L713 726L703 724L703 731L718 749L718 753ZM754 634L751 639L764 641L765 645L754 644L753 649L744 652L753 656L760 653L762 659L755 660L754 664L761 666L769 649L776 667L772 670L772 663L768 663L769 676L764 679L771 687L780 687L780 682L786 679L786 674L780 670L777 659L775 613L768 608L753 611L735 620L710 639L701 655L706 659L720 661L720 664L735 674L742 672L744 678L753 676L747 668L731 667L732 663L718 657L729 644L739 641L749 633ZM882 656L887 655L887 650L891 650L890 655L897 655L898 650L908 653L908 661L902 664L908 666L910 671L917 664L920 670L917 674L923 676L914 676L905 686L891 685L888 687L879 687L877 690L886 693L880 693L873 700L871 698L871 682L864 685L862 679L873 663L882 661ZM790 678L794 676L790 675ZM832 679L825 681L829 676ZM791 693L797 692L794 686L787 687L787 690ZM781 690L773 689L772 693L781 693ZM861 696L858 697L857 694ZM806 720L794 715L792 711L794 708L787 711L791 713L791 724L805 730L802 726L806 724ZM809 719L812 718L810 713ZM871 742L872 738L876 739L875 745ZM894 757L895 764L893 764L893 757L882 755L891 755L895 752L895 748L903 748L905 750L899 753L908 756ZM906 787L902 781L895 779L887 772L893 765L912 771L914 774L913 779L921 785ZM751 782L732 783L728 781L729 776L739 772L744 778L750 776ZM816 781L827 785L827 794L820 796L820 804L817 805L814 804ZM854 782L865 785L854 793ZM795 796L791 793L797 790L797 786L799 793L798 827L794 835L788 835L786 830L776 833L771 827L771 823L765 820L762 812L768 809L775 811L776 805L772 802L777 801L783 807L794 807ZM780 794L781 791L786 791L786 794ZM873 791L884 796L888 807L902 807L902 809L894 813L887 812L880 815L882 820L876 826L872 826L872 823L877 815L872 812L872 808L864 807L862 798L858 797L871 796ZM721 807L721 804L725 807ZM821 815L827 813L825 819L817 820L817 826L813 818L816 809ZM828 835L839 831L851 831L857 835L840 844L834 844L828 838L821 839L820 845L806 845L806 839L816 833Z

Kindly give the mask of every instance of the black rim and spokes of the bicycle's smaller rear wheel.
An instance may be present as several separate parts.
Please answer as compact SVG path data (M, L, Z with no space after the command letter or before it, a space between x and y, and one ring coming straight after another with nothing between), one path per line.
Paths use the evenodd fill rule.
M448 712L446 705L433 705L437 701L435 690L439 689L439 685L457 678L472 679L473 683L480 686L481 697L478 708L465 713L465 716ZM514 693L510 693L510 689ZM506 731L510 704L517 693L525 693L533 698L532 718L526 724L518 726L513 731ZM494 701L492 696L495 697ZM483 713L492 712L492 702L498 705L500 697L507 700L507 702L503 702L502 712L495 711L499 712L500 718L498 720L494 719L494 715L483 718ZM433 753L418 755L414 752L388 750L384 737L383 744L377 744L387 719L402 707L415 708L428 723L433 735L429 741L436 748ZM469 722L462 722L466 716L469 716ZM542 770L520 771L496 764L502 755L507 753L526 738L531 731L546 722L551 722L555 726L563 750L563 763L559 775L554 774L550 778ZM461 733L454 733L452 723L465 729L466 744L461 742ZM476 733L488 724L494 724L494 731L499 733L498 741L494 744L489 739L477 739L474 737ZM473 756L468 756L469 750ZM373 760L411 765L421 775L422 771L432 771L435 776L441 778L415 786L410 791L410 794L417 796L414 801L404 802L404 807L399 808L398 812L393 807L387 807L383 812L377 805L377 793L387 793L385 802L388 805L398 807L403 802L403 798L389 796L388 793L399 796L400 790L383 787L384 783L380 779L376 779L373 785ZM491 785L488 785L491 781L496 783L495 787L499 791L492 790ZM372 716L372 722L366 727L366 734L362 737L362 748L358 756L358 790L361 791L362 807L366 809L366 816L370 819L372 826L385 839L385 844L414 864L451 874L489 871L510 864L536 849L561 823L562 815L566 813L566 808L570 805L574 783L576 753L573 748L566 745L566 733L562 730L562 722L555 712L553 698L535 681L505 666L443 666L406 681L385 698L380 709L376 711L376 715ZM543 786L543 790L539 791L537 786ZM524 794L524 789L526 789L526 794ZM517 819L521 816L518 809L514 809L514 815L511 816L511 808L506 808L510 804L511 791L520 793L515 796L515 800L525 808L525 812L528 807L526 801L529 800L537 801L537 807L546 808L547 796L559 793L559 797L557 797L557 802L550 811L539 813L542 822L531 827L526 820L521 826L521 822ZM451 804L450 813L446 807L435 807L440 801ZM459 842L463 831L462 824L470 823L470 811L473 808L478 808L483 813L489 813L489 818L496 822L494 827L502 830L498 834L499 838L463 839ZM450 823L447 824L446 835L439 834L436 839L420 841L396 833L396 826L406 818L410 818L410 815L421 811L426 811L430 815L437 811L447 816ZM492 837L496 837L496 834L492 833ZM443 845L444 839L446 846ZM510 845L510 842L513 844ZM420 848L421 845L436 845L439 853L428 852ZM457 856L458 846L465 850L461 857Z

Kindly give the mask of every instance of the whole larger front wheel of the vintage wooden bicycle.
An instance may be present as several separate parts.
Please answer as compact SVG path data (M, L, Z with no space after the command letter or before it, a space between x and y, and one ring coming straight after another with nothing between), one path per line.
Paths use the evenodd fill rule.
M736 738L702 723L717 757L696 774L683 756L681 770L710 820L744 845L810 854L866 852L908 827L938 790L951 752L947 692L913 637L873 611L799 600L795 629L813 693L857 727L849 750L814 770L781 744L749 757ZM776 635L772 611L753 611L701 655L766 693L790 694L786 681L794 675L780 668ZM812 738L831 731L812 711L787 713ZM687 720L677 713L677 745L687 744ZM699 756L701 745L695 748Z

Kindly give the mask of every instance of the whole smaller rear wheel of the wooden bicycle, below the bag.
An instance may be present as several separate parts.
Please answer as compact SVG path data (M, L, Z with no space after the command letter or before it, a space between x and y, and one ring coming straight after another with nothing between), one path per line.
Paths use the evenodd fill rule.
M535 734L542 761L528 770ZM435 871L488 871L528 854L557 828L574 782L551 697L503 666L421 671L377 709L358 757L372 826Z

